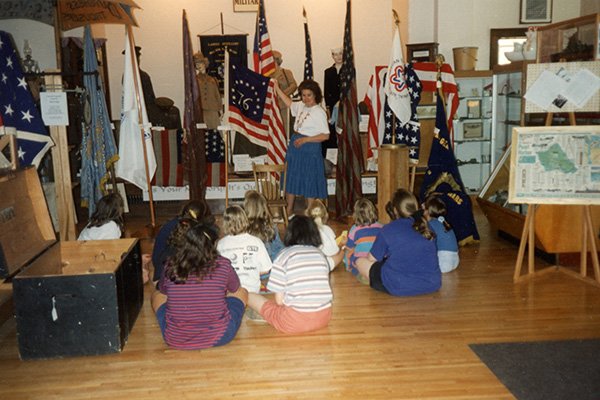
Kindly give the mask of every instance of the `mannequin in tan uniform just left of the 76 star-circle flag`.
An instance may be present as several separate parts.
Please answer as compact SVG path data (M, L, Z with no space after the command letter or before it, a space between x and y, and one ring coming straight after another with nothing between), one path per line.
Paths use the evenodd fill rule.
M215 78L206 73L208 58L202 53L194 54L194 66L196 67L196 80L200 89L200 100L202 102L202 114L204 123L208 129L217 129L221 122L223 101L219 92L219 83Z

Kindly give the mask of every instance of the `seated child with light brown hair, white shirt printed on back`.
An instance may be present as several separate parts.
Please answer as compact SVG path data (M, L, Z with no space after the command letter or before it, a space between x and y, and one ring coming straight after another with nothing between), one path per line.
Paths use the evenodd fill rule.
M217 250L229 258L237 272L242 287L251 293L260 290L260 275L271 270L271 259L265 244L248 233L246 212L240 206L230 206L223 213L225 236L219 240Z

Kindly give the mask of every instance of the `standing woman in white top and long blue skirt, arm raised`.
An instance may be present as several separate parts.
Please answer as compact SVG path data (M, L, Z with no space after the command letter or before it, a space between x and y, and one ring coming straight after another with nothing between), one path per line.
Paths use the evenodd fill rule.
M321 155L321 142L329 138L327 113L319 104L323 100L319 84L305 80L298 87L302 101L292 102L275 85L277 95L296 118L294 134L286 154L286 200L288 215L292 215L296 196L304 196L308 207L315 199L327 198L327 180Z

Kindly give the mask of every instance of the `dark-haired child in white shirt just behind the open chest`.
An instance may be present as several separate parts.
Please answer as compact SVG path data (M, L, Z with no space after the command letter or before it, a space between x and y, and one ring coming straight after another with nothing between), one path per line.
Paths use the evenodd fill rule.
M123 234L123 207L123 198L118 193L102 197L77 240L119 239Z

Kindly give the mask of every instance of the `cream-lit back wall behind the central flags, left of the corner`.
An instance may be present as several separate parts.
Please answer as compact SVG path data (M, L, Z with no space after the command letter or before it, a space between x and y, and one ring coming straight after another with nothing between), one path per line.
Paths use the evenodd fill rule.
M274 49L283 54L283 66L291 69L298 82L303 77L304 25L306 8L312 41L315 79L323 83L323 71L332 64L330 49L341 47L344 34L344 0L266 0L267 23ZM183 109L182 10L188 16L192 43L199 49L199 34L220 34L220 13L225 33L248 33L252 50L255 13L234 13L231 0L139 0L135 11L139 23L134 28L136 44L142 47L141 66L152 78L157 96L170 97ZM362 99L372 66L387 63L391 45L391 0L352 1L353 45L359 98ZM368 33L367 33L368 32ZM120 76L123 71L123 28L106 26L110 62L112 115L118 117Z

